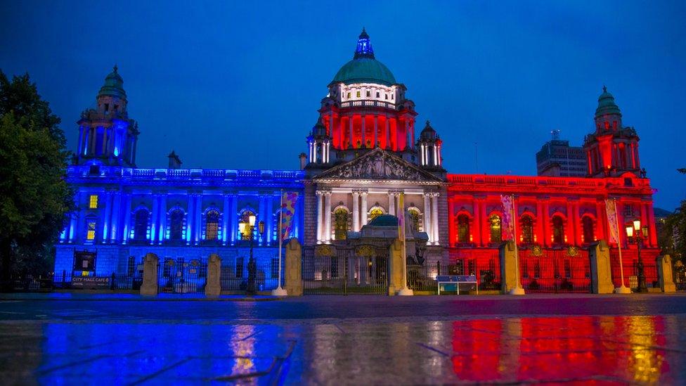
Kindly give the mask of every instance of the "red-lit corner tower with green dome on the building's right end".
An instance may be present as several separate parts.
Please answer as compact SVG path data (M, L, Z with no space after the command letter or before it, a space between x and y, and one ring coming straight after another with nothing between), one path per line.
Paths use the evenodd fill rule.
M589 176L621 176L627 172L641 176L638 135L633 127L622 126L621 117L614 96L603 86L595 109L595 132L585 136L583 143Z

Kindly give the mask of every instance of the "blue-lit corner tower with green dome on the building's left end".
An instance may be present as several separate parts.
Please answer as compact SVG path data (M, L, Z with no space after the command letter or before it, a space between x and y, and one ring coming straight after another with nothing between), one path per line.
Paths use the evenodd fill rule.
M129 119L124 79L117 66L105 77L96 107L84 110L79 125L77 165L136 166L138 124Z

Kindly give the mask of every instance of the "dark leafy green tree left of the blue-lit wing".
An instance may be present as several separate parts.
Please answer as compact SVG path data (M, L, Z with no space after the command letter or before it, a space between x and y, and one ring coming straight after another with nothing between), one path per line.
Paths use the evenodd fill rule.
M52 245L73 207L70 153L48 103L28 75L0 70L0 279L46 274Z

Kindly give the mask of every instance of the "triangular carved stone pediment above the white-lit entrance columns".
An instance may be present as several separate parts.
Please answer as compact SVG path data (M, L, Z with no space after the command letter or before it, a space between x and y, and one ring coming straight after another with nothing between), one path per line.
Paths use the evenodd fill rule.
M361 157L328 169L314 179L443 182L439 177L381 148L375 148Z

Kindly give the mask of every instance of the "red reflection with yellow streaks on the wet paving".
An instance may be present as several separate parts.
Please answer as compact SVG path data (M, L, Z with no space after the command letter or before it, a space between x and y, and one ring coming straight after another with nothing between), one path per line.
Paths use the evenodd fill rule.
M656 383L668 373L663 316L455 321L453 371L477 382Z

